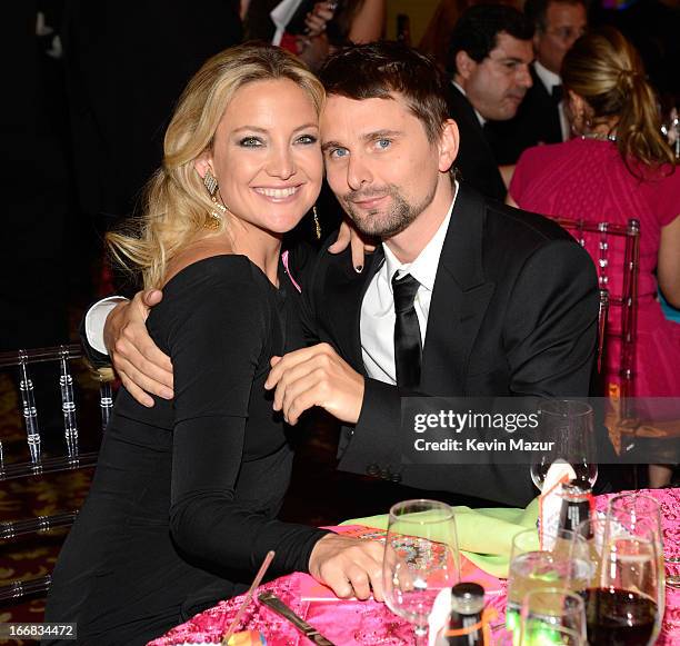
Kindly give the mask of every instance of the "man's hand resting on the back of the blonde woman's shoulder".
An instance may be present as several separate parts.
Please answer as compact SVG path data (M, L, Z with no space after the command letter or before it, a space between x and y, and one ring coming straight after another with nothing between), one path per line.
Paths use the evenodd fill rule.
M122 385L142 406L153 406L151 395L172 399L172 362L147 331L149 309L162 291L138 291L130 301L118 304L104 324L104 345Z

